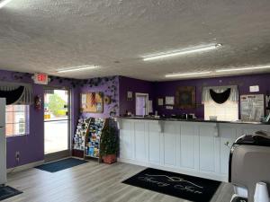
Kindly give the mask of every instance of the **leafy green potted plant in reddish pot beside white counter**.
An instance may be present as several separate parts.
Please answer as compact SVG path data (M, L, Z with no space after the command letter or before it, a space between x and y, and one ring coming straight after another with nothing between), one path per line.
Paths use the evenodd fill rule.
M112 164L116 162L116 154L119 149L118 133L116 127L112 126L112 121L103 128L103 135L100 143L100 153L103 162Z

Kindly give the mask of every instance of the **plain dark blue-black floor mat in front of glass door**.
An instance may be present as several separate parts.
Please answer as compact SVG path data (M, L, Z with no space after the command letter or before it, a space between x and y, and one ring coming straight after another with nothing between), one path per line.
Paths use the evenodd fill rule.
M60 160L58 162L49 162L35 168L40 169L42 171L49 171L49 172L56 172L56 171L63 171L77 165L81 165L86 163L87 161L75 159L75 158L67 158Z

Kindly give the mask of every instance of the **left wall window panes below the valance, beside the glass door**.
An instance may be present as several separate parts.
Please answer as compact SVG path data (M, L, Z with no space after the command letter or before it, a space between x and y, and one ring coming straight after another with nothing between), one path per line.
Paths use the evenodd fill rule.
M5 136L29 134L29 106L7 105L5 108Z

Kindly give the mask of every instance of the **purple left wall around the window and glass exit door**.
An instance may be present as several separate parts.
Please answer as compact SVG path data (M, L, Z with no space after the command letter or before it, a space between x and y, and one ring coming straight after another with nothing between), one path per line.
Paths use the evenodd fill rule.
M43 85L34 84L31 80L31 75L23 73L14 73L0 70L0 80L14 83L32 83L33 96L40 95L43 98ZM74 87L70 82L65 80L59 82L54 80L49 83L51 86L70 87L71 88L71 121L72 131L75 129L76 120L79 115L79 88ZM12 168L31 162L44 160L44 127L43 127L43 110L35 110L34 106L30 107L30 134L27 136L12 136L7 137L7 167ZM15 161L16 151L20 152L19 164Z

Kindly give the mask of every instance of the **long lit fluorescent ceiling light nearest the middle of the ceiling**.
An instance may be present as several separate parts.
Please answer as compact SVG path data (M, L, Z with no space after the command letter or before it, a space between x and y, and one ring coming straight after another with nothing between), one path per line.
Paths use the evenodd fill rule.
M200 47L185 48L185 49L173 50L170 52L163 52L163 53L158 53L156 55L142 57L142 59L144 61L148 61L148 60L160 59L160 58L165 58L165 57L175 57L175 56L180 56L180 55L189 54L189 53L211 50L211 49L219 48L221 46L222 45L218 43L218 44L210 44L210 45L200 46Z

